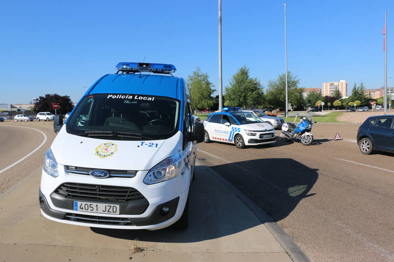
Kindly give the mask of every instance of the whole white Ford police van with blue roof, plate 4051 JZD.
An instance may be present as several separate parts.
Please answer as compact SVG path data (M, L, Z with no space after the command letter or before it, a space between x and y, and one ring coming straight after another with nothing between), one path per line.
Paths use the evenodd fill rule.
M170 64L116 68L89 88L64 125L55 116L41 213L89 227L186 229L196 143L204 139L186 81L172 76Z

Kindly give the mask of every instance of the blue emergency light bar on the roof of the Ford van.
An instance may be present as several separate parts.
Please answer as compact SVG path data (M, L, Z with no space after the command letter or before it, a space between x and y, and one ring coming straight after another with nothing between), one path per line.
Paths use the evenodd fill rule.
M116 69L123 72L152 72L152 73L174 73L177 68L172 64L154 64L154 63L135 63L120 62Z

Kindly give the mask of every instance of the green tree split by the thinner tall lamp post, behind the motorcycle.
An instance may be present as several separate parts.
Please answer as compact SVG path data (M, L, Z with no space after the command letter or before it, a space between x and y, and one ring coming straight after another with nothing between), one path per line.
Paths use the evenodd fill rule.
M298 87L299 79L290 71L287 73L288 103L300 108L305 103L302 93L304 88ZM274 108L286 108L286 75L278 75L277 79L269 80L266 92L267 103Z

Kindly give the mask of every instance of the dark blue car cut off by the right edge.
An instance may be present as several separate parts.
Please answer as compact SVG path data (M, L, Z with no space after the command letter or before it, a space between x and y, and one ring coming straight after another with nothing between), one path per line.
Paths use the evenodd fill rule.
M362 154L374 150L394 153L394 115L368 117L359 127L357 143Z

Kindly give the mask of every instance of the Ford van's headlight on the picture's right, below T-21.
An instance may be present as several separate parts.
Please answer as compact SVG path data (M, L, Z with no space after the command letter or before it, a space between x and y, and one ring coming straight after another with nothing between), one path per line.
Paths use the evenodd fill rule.
M148 174L144 178L144 183L152 185L175 178L179 174L180 161L181 159L179 154L176 154L171 158L164 159L149 170Z

